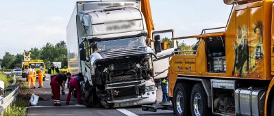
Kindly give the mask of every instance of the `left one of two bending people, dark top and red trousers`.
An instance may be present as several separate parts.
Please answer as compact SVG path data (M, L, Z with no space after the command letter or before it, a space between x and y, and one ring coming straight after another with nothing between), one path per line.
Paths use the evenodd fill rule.
M60 86L62 87L62 95L64 95L64 85L66 83L66 75L58 74L51 79L51 93L53 93L54 106L60 104Z

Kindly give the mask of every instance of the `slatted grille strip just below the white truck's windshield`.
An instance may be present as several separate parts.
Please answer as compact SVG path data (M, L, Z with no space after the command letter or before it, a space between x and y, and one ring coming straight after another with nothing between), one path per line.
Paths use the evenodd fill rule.
M126 49L126 50L111 50L103 53L103 56L105 58L111 58L111 57L123 57L127 55L136 55L145 53L145 48L132 48L132 49Z

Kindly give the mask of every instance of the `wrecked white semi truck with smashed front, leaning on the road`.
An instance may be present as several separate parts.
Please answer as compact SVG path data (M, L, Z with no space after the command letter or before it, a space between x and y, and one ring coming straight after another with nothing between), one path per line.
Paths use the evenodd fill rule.
M153 104L153 56L136 1L77 2L67 27L68 60L82 72L82 100L105 108Z

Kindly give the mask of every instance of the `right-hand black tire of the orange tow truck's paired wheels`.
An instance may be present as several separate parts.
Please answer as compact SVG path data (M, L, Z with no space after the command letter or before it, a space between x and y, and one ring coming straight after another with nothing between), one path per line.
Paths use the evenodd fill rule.
M197 100L196 98L199 100ZM198 108L198 111L195 111L195 99L198 101L197 104L200 105L200 109ZM208 96L206 95L206 91L203 89L203 85L201 85L201 83L194 85L194 87L192 88L190 108L192 115L196 115L196 113L199 113L202 116L210 115L210 109L208 108Z

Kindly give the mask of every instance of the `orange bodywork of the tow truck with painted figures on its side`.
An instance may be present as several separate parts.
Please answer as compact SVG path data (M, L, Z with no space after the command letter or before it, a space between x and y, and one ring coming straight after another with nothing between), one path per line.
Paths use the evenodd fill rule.
M235 1L227 3L235 3ZM173 55L169 67L169 96L173 97L178 76L226 80L264 81L266 99L264 115L274 94L274 3L272 0L243 0L234 5L225 31L202 33L192 55ZM225 47L225 71L213 72L208 66L208 42L221 40ZM271 96L270 96L271 95Z

